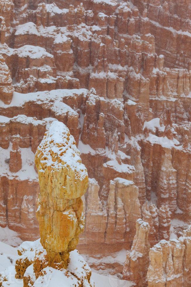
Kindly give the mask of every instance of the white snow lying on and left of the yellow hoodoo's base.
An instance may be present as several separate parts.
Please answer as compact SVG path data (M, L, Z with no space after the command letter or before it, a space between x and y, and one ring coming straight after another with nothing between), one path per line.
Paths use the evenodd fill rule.
M4 250L4 253L2 252ZM34 242L27 241L23 242L22 245L19 247L19 250L22 252L22 255L19 256L17 253L17 249L5 245L4 243L0 242L0 271L1 276L4 278L6 276L7 281L2 283L2 286L23 286L23 281L15 279L15 260L18 258L28 258L29 261L34 260L34 256L37 252L38 257L41 259L44 258L46 255L46 250L40 244L40 240L36 240ZM70 261L68 268L57 270L52 267L44 268L41 273L42 275L36 280L33 266L29 266L26 271L25 275L32 276L34 280L33 286L49 286L49 287L71 287L71 286L81 286L80 278L83 278L84 287L88 287L89 283L87 280L87 275L90 274L91 269L84 261L83 257L79 255L77 250L70 252ZM91 279L93 283L93 280Z

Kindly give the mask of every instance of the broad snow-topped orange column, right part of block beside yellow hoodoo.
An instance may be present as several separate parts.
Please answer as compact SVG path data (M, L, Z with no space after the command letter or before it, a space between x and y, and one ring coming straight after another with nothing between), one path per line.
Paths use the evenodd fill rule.
M134 182L120 177L110 181L107 216L105 243L126 242L131 245L136 221L141 217L138 187Z

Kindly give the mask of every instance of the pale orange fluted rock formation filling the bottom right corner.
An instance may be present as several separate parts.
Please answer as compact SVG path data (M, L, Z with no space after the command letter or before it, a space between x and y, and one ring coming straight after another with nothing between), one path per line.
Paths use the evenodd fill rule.
M148 286L190 286L190 229L178 240L162 240L150 249Z

